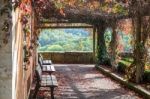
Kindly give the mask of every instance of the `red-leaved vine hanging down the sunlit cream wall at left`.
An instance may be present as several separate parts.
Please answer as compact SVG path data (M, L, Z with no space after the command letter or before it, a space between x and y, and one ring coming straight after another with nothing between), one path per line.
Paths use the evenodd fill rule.
M30 0L24 0L20 3L19 8L21 10L21 23L22 23L22 30L24 33L24 69L27 70L27 65L30 64L30 56L32 56L31 53L31 2Z

